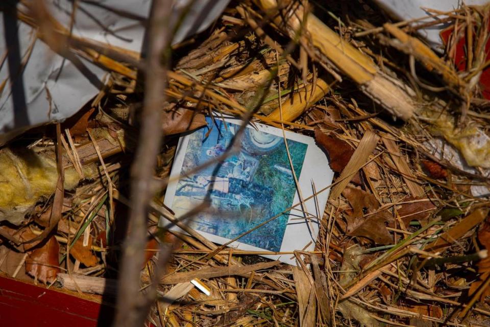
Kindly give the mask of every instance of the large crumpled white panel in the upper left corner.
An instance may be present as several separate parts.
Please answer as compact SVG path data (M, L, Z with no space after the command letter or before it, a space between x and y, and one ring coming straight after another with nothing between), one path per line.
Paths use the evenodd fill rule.
M172 10L171 19L178 20L182 9L189 4L190 7L173 43L208 28L228 3L229 0L177 0L173 8L169 8ZM68 28L72 1L48 0L46 4L51 14ZM72 33L140 53L150 8L151 0L79 0ZM4 15L2 13L0 16L0 58L4 57L8 48ZM42 41L36 40L31 27L19 21L17 35L20 48L20 58L17 59L22 61L30 53L21 74L23 87L20 89L24 100L22 101L22 96L19 97L19 92L15 93L15 97L12 94L13 79L9 77L15 76L17 80L18 69L13 74L9 72L7 56L0 63L0 83L8 79L0 94L0 145L31 127L63 121L75 114L99 92L101 82L107 74L104 69L79 56L77 58L84 68L77 67L70 60L64 60ZM25 107L22 102L25 102Z

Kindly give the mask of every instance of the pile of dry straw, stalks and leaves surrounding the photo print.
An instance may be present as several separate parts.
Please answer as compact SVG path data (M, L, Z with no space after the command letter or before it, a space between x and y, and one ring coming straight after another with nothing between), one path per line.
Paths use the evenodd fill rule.
M154 10L141 55L72 36L42 5L18 9L36 42L107 74L75 116L0 149L3 274L119 297L156 326L488 324L490 7L398 21L363 0L231 2L156 57L154 41L169 37ZM430 48L419 32L442 25ZM313 251L217 245L189 227L209 203L188 217L163 205L179 137L213 113L315 138L330 167L314 169L335 176L314 191L329 200L311 217ZM222 150L216 160L233 147ZM129 262L132 246L144 253Z

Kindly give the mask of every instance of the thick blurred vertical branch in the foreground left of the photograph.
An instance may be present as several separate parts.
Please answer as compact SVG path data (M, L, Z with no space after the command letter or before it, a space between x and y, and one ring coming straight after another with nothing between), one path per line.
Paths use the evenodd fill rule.
M142 326L151 303L140 292L140 273L144 260L149 202L153 196L151 182L162 138L160 108L165 100L167 84L165 66L170 43L168 22L171 7L171 0L154 0L151 9L144 107L139 146L131 171L129 232L120 266L117 313L113 324L117 327Z

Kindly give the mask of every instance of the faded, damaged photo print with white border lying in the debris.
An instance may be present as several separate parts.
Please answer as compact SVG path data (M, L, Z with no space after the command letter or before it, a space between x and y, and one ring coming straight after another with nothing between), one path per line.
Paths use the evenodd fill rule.
M180 218L210 203L186 222L219 244L243 235L230 246L269 252L313 249L317 217L322 217L328 198L329 190L324 189L333 178L314 139L285 131L286 147L281 129L254 124L230 147L242 122L210 117L206 121L206 127L180 139L171 172L179 179L169 184L165 205ZM229 155L224 155L228 149ZM208 162L212 164L196 169ZM316 166L319 163L322 166ZM163 218L160 224L169 227ZM294 262L291 254L264 256Z

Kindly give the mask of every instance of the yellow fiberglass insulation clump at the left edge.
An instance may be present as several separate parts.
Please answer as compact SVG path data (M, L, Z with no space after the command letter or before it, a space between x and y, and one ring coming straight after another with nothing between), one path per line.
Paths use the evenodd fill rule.
M85 166L86 176L93 176L95 165ZM64 188L78 185L80 176L73 168L64 170ZM58 171L54 154L32 150L0 150L0 221L20 224L24 216L42 198L49 197L56 187Z

